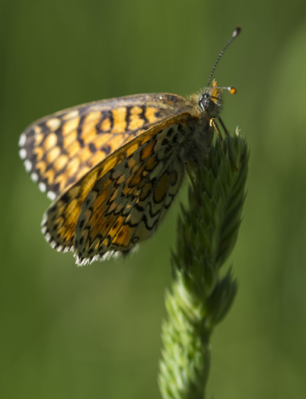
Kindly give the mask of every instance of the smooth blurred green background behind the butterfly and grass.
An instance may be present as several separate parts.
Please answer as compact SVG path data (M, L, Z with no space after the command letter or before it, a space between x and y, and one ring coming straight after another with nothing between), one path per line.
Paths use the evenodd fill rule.
M179 201L138 253L78 269L40 233L49 200L18 158L35 119L88 101L205 86L251 151L231 259L238 296L212 337L208 397L306 391L306 3L1 1L2 398L158 398L160 324Z

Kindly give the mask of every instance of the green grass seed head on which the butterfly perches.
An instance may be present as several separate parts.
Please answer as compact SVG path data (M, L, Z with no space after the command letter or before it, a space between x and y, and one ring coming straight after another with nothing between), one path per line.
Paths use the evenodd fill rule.
M237 282L220 268L232 251L241 221L248 174L246 141L238 134L210 148L182 207L172 255L173 284L166 292L168 319L159 385L164 399L202 399L209 373L209 338L230 309ZM229 158L228 154L231 155ZM237 168L235 167L237 166ZM237 376L238 379L238 376Z

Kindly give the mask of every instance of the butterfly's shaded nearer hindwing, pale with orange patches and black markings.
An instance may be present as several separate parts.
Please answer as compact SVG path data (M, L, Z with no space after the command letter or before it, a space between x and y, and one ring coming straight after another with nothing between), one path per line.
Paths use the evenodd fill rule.
M177 126L159 130L96 181L76 226L78 265L103 259L109 251L128 252L157 229L184 175L178 148L172 143Z

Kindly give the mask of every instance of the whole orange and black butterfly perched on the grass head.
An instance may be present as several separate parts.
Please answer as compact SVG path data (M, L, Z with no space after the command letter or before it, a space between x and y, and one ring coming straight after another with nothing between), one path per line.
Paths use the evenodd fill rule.
M41 223L51 247L72 251L82 266L126 254L152 235L185 169L191 176L190 168L203 163L214 129L222 137L215 122L221 91L236 89L209 83L239 32L202 93L87 103L39 119L21 134L25 169L53 201Z

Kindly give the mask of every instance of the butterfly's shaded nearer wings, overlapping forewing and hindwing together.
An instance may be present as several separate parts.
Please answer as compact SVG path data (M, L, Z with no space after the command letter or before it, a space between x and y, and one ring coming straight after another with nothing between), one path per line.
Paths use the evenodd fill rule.
M62 194L42 223L51 246L74 251L82 265L148 238L181 185L180 138L190 117L180 113L150 128Z

